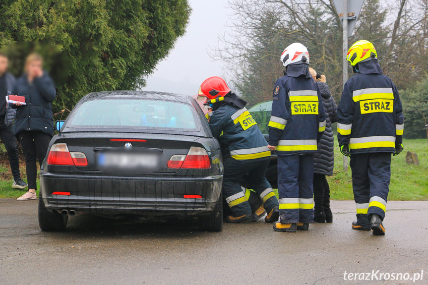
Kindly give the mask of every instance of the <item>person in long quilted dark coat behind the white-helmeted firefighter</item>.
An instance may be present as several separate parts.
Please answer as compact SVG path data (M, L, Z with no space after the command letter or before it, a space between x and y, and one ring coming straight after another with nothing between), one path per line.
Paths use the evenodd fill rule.
M326 116L325 131L318 143L313 165L313 221L315 223L333 223L333 215L330 210L330 186L325 176L333 175L334 137L331 124L337 121L337 106L331 96L325 75L317 74L313 68L309 68L309 71L321 92Z

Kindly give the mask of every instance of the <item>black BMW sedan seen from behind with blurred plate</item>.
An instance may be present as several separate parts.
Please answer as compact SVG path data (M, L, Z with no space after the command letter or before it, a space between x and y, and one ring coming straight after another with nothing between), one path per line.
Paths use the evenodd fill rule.
M40 172L42 230L80 214L196 216L222 230L220 145L193 98L90 93L56 127Z

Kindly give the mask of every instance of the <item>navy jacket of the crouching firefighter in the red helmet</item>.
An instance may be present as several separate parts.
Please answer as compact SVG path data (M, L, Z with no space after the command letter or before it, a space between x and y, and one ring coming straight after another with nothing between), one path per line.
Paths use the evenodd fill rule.
M214 104L209 120L213 136L236 160L270 157L267 142L245 104L233 93Z

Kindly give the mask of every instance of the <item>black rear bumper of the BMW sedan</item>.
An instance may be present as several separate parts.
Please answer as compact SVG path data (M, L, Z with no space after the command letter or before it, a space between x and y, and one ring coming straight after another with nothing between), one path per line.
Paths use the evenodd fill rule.
M48 209L107 216L208 214L219 199L222 182L222 175L123 177L40 173L40 191ZM56 191L70 195L52 194Z

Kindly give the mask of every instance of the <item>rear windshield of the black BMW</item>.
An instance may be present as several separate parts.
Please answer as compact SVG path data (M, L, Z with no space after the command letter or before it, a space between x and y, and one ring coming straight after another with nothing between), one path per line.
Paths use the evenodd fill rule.
M67 126L196 131L192 106L163 100L98 99L82 103Z

